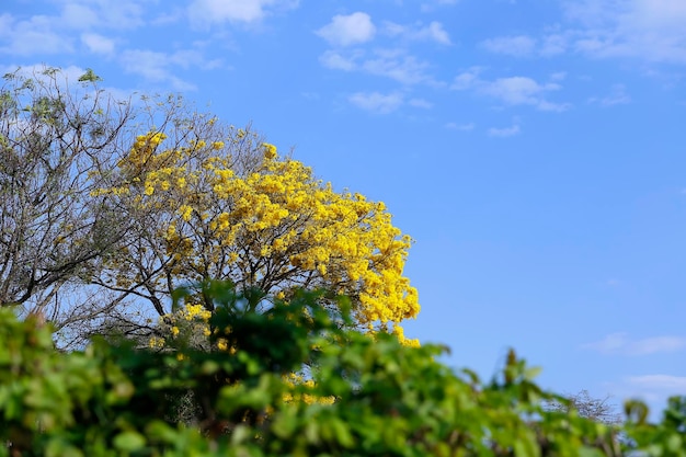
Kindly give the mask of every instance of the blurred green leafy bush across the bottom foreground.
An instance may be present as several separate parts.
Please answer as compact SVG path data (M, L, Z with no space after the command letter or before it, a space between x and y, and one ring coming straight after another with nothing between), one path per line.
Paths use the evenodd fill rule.
M686 456L684 397L659 424L629 402L613 427L546 410L561 398L512 352L483 382L436 362L438 346L350 330L322 294L248 315L262 295L206 295L210 343L228 350L59 353L48 328L0 309L0 456Z

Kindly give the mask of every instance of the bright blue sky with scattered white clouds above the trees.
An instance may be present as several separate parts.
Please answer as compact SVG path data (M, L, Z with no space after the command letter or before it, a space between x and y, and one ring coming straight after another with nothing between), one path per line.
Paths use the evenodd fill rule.
M483 377L686 392L683 0L3 0L0 70L264 133L415 239L407 334Z

